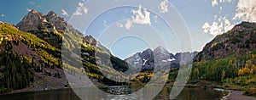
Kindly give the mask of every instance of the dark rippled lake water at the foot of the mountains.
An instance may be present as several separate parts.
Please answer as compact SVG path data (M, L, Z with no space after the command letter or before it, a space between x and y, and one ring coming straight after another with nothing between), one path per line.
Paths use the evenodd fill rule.
M125 88L125 89L124 89ZM121 89L121 90L119 90ZM90 90L90 89L87 89ZM120 88L119 86L109 86L102 87L103 91L113 92L113 94L122 92L124 94L130 94L132 92L131 89L126 89L126 87ZM172 88L163 87L160 93L154 97L154 100L168 100L169 94ZM90 91L84 91L84 93L91 93ZM228 92L216 91L212 88L187 88L185 87L183 91L176 97L177 100L218 100L226 96ZM118 97L108 96L106 94L94 94L91 93L90 99L99 99L99 100L115 100L115 99L127 99L127 100L139 100L142 99L143 96L137 96L128 98L125 95L116 95ZM72 89L61 89L61 90L51 90L44 92L23 92L23 93L15 93L8 95L0 95L0 100L80 100L80 98L73 92Z

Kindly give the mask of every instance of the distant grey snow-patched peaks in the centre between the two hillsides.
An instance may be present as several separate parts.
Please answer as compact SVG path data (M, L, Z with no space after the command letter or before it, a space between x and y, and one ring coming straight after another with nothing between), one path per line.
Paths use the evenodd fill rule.
M125 62L131 66L148 71L154 67L179 68L180 64L186 64L195 58L197 52L193 53L169 53L164 47L156 47L154 50L146 49L142 53L135 53L129 58L125 58Z

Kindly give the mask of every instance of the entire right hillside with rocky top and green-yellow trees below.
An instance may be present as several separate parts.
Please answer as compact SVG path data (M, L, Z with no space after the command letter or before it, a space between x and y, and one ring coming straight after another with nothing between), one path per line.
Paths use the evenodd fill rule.
M211 81L256 94L256 24L242 22L216 36L194 59L191 82Z

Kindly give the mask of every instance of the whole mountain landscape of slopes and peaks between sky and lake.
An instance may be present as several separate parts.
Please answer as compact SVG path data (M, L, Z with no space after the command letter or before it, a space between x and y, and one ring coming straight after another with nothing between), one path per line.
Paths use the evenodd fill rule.
M0 22L0 92L90 87L86 76L99 87L145 86L155 79L173 86L178 70L193 62L187 87L239 90L255 97L255 39L256 24L241 22L199 53L173 54L156 47L122 60L55 12L44 15L32 9L17 25Z

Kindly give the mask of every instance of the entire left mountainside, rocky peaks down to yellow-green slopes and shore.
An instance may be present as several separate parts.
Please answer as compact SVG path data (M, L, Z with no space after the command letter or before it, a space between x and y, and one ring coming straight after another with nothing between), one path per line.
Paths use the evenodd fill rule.
M82 40L76 40L76 36ZM69 84L86 85L84 81L68 83L66 78L85 74L96 85L120 85L123 83L108 78L117 79L119 71L129 68L92 36L82 36L52 11L44 15L33 9L16 26L1 22L0 40L1 93L43 91L65 88ZM61 53L62 42L65 46ZM80 58L73 57L82 57L83 66L77 66ZM110 61L102 57L108 57ZM61 58L67 62L62 62ZM109 77L102 75L99 69L105 70ZM67 75L64 70L67 70Z

